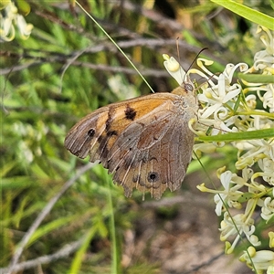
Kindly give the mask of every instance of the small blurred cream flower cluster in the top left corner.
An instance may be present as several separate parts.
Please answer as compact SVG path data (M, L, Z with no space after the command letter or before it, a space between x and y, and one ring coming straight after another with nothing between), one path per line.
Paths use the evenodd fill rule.
M33 29L33 25L27 24L24 16L18 14L18 9L14 2L5 2L5 8L0 13L0 41L12 41L16 37L15 26L19 30L20 37L27 39Z

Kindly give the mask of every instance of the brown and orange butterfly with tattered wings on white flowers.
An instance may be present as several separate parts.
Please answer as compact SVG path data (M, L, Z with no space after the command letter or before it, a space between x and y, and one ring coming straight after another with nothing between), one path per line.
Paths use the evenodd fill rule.
M195 134L188 121L198 105L186 76L171 93L159 92L112 103L81 119L68 132L70 153L100 161L130 197L135 187L160 199L178 189L192 156Z

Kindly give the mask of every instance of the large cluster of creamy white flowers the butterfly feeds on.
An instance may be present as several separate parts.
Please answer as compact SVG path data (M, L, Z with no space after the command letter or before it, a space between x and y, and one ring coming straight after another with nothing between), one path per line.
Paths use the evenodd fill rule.
M203 192L216 194L216 215L223 215L219 229L220 239L226 241L226 253L232 253L239 240L245 237L250 248L244 252L240 260L246 262L257 273L264 273L263 271L267 270L268 274L273 274L274 251L261 250L261 241L255 235L258 222L261 227L274 224L274 38L268 29L258 27L258 32L262 31L264 35L261 40L266 49L255 55L251 68L245 63L228 64L225 70L216 76L205 67L211 65L212 61L199 58L197 64L203 71L190 69L189 73L196 73L207 79L199 89L201 92L197 94L203 108L197 113L195 133L198 136L205 136L206 129L212 127L212 131L209 132L211 136L223 136L227 132L237 132L238 136L243 136L232 142L238 151L235 168L240 172L235 174L226 167L218 169L217 175L223 190L209 189L205 184L197 187ZM176 67L174 58L167 58L166 55L163 58L166 60L165 68L181 84L185 72L182 73L178 68L176 71L170 69ZM167 66L167 62L173 63L173 67ZM239 80L233 82L237 68L244 74L256 72L257 76L269 75L272 81L243 81L247 87L243 89ZM256 136L249 140L247 137L248 132L264 130L267 132L264 138L258 135L257 139ZM213 152L214 148L224 144L224 141L197 143L194 151L196 155ZM240 213L232 215L229 211L231 207ZM255 208L260 209L261 216L256 222ZM260 250L257 251L256 248ZM274 230L269 232L269 248L274 248Z

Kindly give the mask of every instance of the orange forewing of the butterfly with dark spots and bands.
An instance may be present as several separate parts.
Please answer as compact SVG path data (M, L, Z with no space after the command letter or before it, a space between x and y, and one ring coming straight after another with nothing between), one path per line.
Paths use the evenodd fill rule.
M66 148L79 158L92 154L90 162L100 160L102 147L107 140L114 142L121 129L150 112L152 100L155 107L163 103L164 98L154 100L151 98L153 95L113 103L91 112L68 132Z

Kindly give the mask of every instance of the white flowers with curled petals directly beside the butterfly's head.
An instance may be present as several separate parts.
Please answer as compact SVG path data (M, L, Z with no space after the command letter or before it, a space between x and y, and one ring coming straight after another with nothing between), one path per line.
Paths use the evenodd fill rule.
M207 79L207 84L201 86L202 93L197 95L198 100L205 103L204 108L198 111L198 121L214 127L211 135L238 132L242 122L245 121L245 117L243 119L242 116L235 115L236 106L238 110L243 108L238 105L237 100L242 88L238 83L233 84L232 79L237 68L245 71L248 69L248 65L245 63L227 64L225 70L216 76L205 68L205 65L208 65L205 59L198 58L197 64L205 71L206 75L197 69L191 69L191 72ZM216 83L213 79L216 80ZM252 99L254 101L254 97Z

